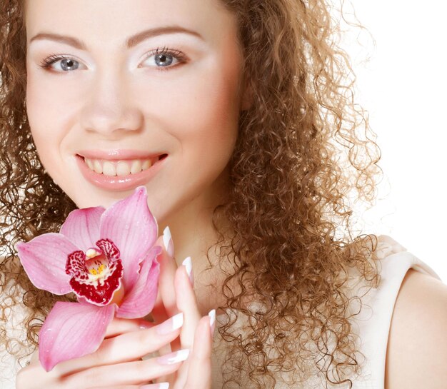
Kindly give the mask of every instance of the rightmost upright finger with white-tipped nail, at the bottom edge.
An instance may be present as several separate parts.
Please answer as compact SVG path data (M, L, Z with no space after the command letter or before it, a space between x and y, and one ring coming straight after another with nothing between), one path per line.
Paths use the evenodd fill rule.
M213 334L211 322L216 320L216 311L201 318L194 335L194 346L189 357L188 377L184 389L211 388L211 350Z

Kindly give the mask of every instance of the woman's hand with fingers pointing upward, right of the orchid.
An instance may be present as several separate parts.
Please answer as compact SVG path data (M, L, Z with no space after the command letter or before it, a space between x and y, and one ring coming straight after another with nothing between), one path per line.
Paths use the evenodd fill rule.
M169 382L169 389L211 389L211 348L216 311L201 316L193 288L191 258L186 258L184 266L177 268L169 228L158 244L164 250L159 261L159 296L152 315L159 322L176 313L184 313L180 337L171 342L171 348L162 348L160 352L188 348L191 353L179 370L160 377L157 382Z

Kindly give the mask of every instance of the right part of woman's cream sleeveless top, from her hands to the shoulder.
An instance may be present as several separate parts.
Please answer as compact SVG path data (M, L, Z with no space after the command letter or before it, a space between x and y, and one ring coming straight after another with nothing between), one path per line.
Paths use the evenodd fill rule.
M385 383L385 360L386 348L388 344L388 333L391 325L391 316L393 314L394 304L401 287L406 272L413 268L421 273L428 274L441 280L430 266L423 263L406 248L401 246L393 238L386 235L378 236L378 246L373 253L373 257L380 260L379 269L381 281L378 288L372 288L368 291L361 283L360 278L354 273L350 273L350 279L346 283L346 295L364 295L361 298L362 308L358 315L350 319L353 333L356 333L360 339L359 350L364 355L363 360L358 360L361 365L361 374L350 377L353 383L352 389L383 389ZM364 288L364 291L362 289ZM351 291L351 292L349 292ZM358 312L355 306L351 306L352 313ZM224 320L224 315L218 317ZM217 331L216 331L217 332ZM221 389L222 375L221 365L223 355L219 355L219 339L215 335L216 352L213 354L213 387L212 389ZM311 389L326 388L326 380L318 370L315 374L308 377L308 380L297 385L287 385L278 377L276 389ZM327 383L327 388L349 388L348 383L343 385L331 386ZM231 389L244 388L251 389L251 385L243 383L234 384Z

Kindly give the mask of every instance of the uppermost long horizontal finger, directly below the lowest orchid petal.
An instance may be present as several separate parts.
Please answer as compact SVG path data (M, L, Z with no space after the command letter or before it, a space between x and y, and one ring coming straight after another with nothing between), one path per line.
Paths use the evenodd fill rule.
M152 328L106 339L94 353L66 360L56 365L54 370L59 375L66 375L92 366L139 360L177 338L184 321L183 316L183 313L180 313Z

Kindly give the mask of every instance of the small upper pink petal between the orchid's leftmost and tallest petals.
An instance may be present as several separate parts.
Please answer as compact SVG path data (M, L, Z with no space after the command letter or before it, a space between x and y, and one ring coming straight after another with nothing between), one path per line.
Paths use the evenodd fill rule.
M75 209L62 224L60 233L85 252L100 238L99 223L104 211L104 207Z

